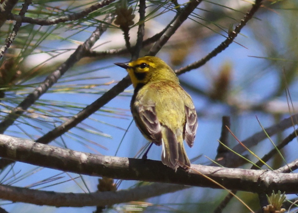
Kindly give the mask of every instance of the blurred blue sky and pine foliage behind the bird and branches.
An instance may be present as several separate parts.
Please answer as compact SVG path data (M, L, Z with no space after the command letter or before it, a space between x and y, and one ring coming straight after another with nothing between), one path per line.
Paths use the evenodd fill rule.
M33 1L26 16L61 17L79 12L96 2ZM21 3L18 2L12 10L14 14L18 14L22 8ZM137 39L139 2L124 3L135 14L134 24L129 31L130 42L134 45ZM115 1L77 21L50 26L22 24L13 44L0 59L0 119L3 120L48 74L65 62L90 37L106 14L124 3ZM175 1L146 1L145 39L163 30L186 3L178 1L175 6ZM173 70L200 60L226 39L228 32L251 9L252 3L244 0L203 1L156 56L167 62ZM297 9L298 2L295 0L264 1L254 18L226 50L198 69L179 76L199 116L194 146L186 147L187 155L194 159L192 163L207 165L211 163L208 158L215 159L222 116L231 117L232 132L238 139L244 140L262 130L256 116L264 127L270 127L297 113ZM13 26L14 21L6 21L1 27L2 44ZM140 56L146 55L151 46L143 47ZM114 50L119 49L124 49L122 54L115 53ZM4 134L35 140L77 114L127 75L125 70L114 65L115 62L131 59L125 49L123 31L112 22L93 46L95 56L85 57L70 67ZM286 96L286 89L292 98L291 103ZM51 144L100 155L139 156L147 141L132 122L129 108L132 93L133 87L129 86ZM292 131L293 128L290 128L274 135L273 142L280 143ZM228 146L232 148L237 144L230 137ZM297 140L293 140L280 150L286 162L297 158L297 146ZM262 157L272 148L272 143L266 139L252 147L252 151ZM160 155L161 147L153 146L148 158L160 160ZM253 162L257 161L252 155L249 158ZM268 164L276 169L283 166L284 162L279 155L275 155ZM242 166L250 167L248 163ZM115 182L118 189L142 184L137 181ZM97 190L98 178L15 163L1 171L0 183L56 192L88 193ZM126 203L104 211L213 212L227 194L225 190L191 187L144 200L143 206ZM237 195L252 209L260 208L257 195L246 192ZM55 208L5 200L0 201L0 205L8 212L92 212L96 209ZM223 212L248 210L234 198Z

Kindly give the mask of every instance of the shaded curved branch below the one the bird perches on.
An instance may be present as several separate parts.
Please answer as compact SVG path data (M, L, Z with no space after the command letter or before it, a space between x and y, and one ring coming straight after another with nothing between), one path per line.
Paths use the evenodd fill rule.
M142 200L164 194L165 188L171 188L173 184L150 184L128 190L92 192L92 193L57 193L53 191L41 191L22 187L0 185L0 199L13 202L33 203L36 205L48 205L55 207L85 207L106 206L116 203ZM188 187L180 185L179 189ZM172 188L174 192L176 187Z

